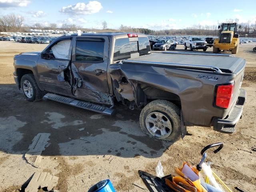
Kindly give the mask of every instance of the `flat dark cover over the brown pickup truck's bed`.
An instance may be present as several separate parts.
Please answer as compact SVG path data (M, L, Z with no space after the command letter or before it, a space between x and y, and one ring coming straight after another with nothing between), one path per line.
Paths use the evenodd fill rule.
M186 54L179 52L160 52L150 55L131 58L123 62L136 62L143 64L159 64L159 65L190 65L190 66L208 66L216 67L225 73L237 73L244 68L245 60L232 56L211 55L211 54Z

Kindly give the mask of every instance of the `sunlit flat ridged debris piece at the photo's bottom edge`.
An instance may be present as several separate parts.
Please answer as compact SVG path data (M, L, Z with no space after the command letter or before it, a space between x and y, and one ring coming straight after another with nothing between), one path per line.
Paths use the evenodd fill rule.
M58 179L58 177L48 172L34 173L25 192L36 192L39 188L47 188L47 190L50 191L58 184Z

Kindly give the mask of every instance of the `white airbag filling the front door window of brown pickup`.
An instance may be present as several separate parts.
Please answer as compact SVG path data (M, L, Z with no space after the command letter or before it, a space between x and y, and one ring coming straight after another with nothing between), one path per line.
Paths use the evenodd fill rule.
M52 46L52 54L58 59L68 59L71 40L63 40Z

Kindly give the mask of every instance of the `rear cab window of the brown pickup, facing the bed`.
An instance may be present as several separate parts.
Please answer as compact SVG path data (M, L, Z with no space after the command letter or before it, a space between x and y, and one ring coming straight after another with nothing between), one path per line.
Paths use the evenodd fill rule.
M147 37L118 38L115 40L113 62L151 53Z

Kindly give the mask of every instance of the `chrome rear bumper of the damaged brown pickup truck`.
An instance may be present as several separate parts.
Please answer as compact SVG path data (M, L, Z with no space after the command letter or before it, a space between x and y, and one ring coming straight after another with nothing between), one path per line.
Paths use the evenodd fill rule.
M225 119L215 119L213 129L223 133L233 133L235 126L242 117L244 102L246 100L246 90L240 89L237 103L230 110L230 113Z

